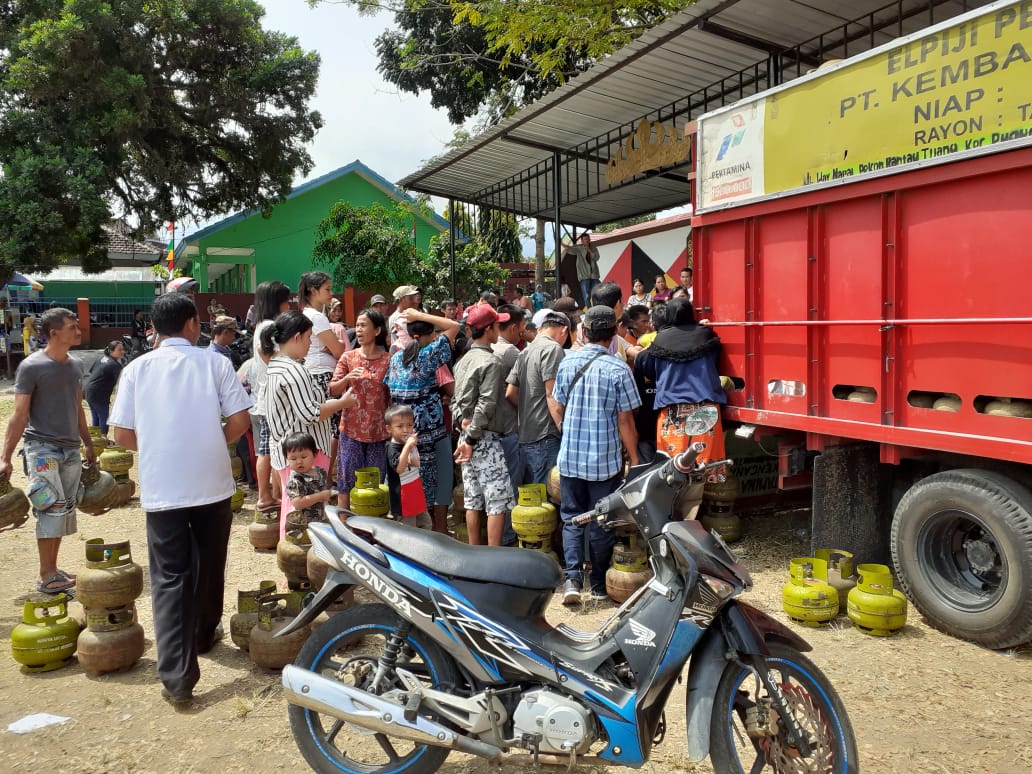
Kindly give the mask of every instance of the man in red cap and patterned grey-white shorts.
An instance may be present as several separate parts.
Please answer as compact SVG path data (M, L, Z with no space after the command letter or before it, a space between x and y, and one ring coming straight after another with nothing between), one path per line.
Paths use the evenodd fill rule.
M487 514L487 543L501 546L506 512L516 506L502 436L516 429L516 409L505 399L502 361L491 351L499 315L487 303L470 309L465 322L473 346L455 366L452 414L462 430L455 460L462 465L462 491L470 543L480 542L481 513Z

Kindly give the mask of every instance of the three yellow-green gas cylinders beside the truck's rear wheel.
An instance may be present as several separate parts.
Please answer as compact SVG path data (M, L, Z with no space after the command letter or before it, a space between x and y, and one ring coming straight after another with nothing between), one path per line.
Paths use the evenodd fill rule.
M906 598L894 588L889 568L858 565L854 576L852 554L837 549L792 559L781 605L804 626L826 626L845 613L864 634L888 637L906 623Z

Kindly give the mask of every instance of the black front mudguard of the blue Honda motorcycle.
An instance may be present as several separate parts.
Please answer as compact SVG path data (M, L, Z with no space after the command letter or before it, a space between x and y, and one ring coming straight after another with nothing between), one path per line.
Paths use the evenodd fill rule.
M684 714L691 763L699 763L709 754L713 698L728 665L729 652L767 655L770 640L783 642L804 653L812 650L810 644L791 628L742 602L724 608L717 621L696 646L688 664Z

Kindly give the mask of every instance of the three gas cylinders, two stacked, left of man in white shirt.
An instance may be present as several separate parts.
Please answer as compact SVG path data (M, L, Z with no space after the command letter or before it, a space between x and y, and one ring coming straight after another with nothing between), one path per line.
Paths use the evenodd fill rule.
M84 620L68 614L68 594L33 594L22 623L11 632L11 654L24 672L50 672L77 656L91 674L124 672L143 655L143 627L135 601L143 571L132 560L129 542L87 541L86 567L75 581Z

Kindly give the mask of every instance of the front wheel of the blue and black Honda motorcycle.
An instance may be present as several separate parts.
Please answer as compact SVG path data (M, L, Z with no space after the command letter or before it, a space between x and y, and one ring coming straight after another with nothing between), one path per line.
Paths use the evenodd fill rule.
M710 757L714 771L778 774L820 772L856 774L857 739L845 707L831 682L795 648L768 643L767 669L810 745L810 754L785 740L767 690L751 671L729 664L717 685L710 721Z

